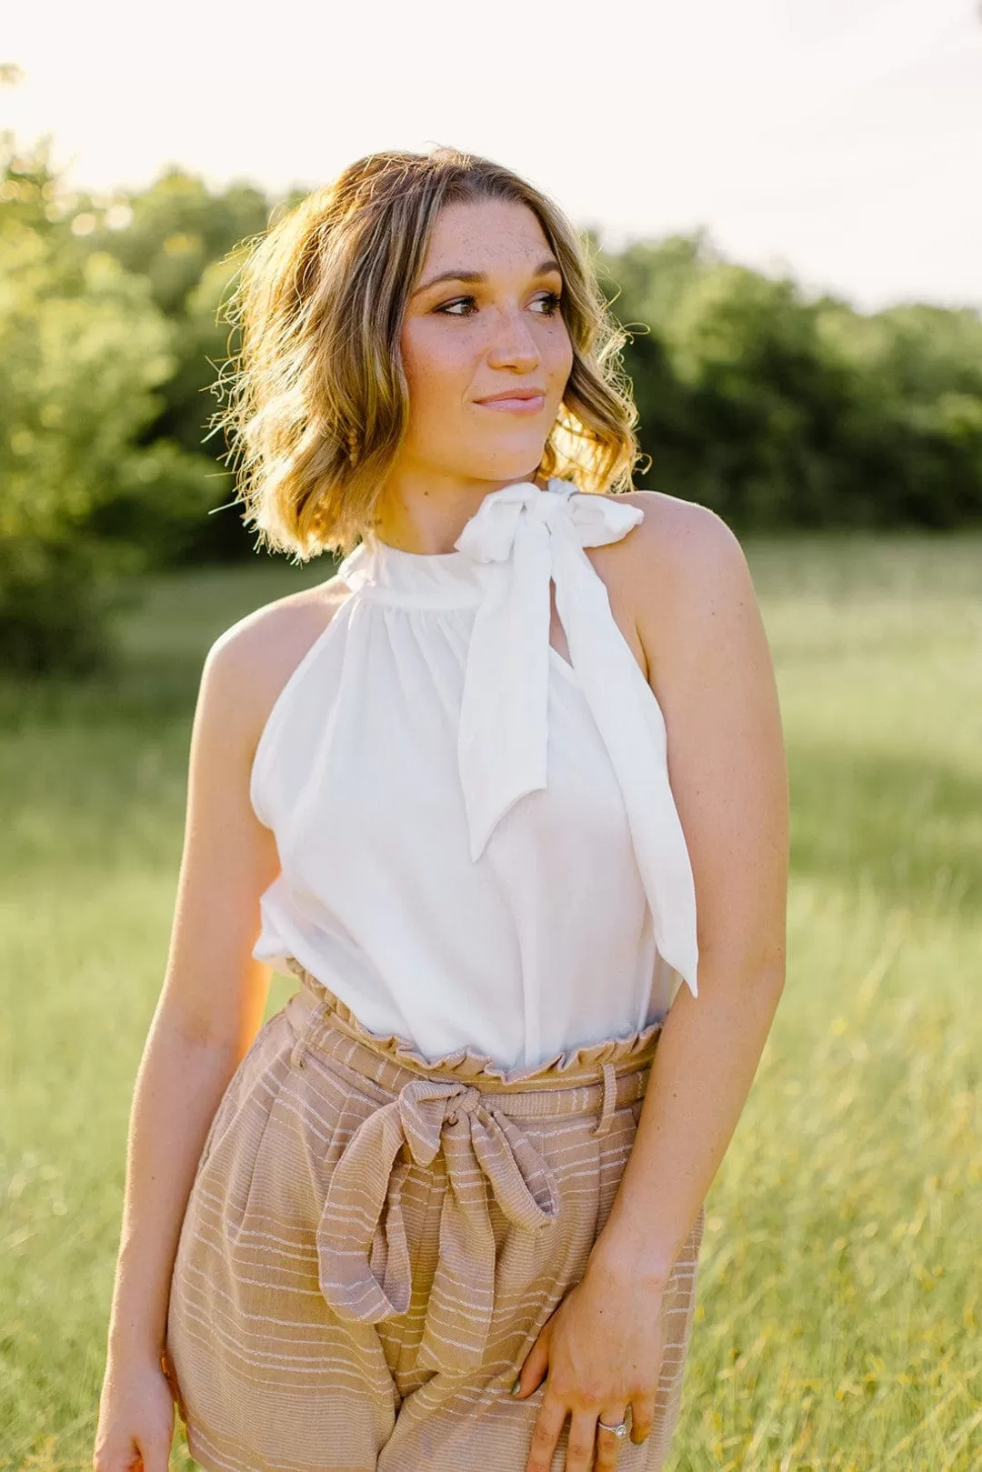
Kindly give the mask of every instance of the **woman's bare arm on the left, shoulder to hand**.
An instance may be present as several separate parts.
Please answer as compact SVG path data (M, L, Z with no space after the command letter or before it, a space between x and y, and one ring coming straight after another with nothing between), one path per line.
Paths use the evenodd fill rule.
M277 693L330 617L318 593L250 615L205 661L171 945L130 1117L97 1472L128 1469L137 1450L146 1472L166 1472L172 1403L160 1357L177 1242L208 1129L269 989L252 948L280 863L249 777Z

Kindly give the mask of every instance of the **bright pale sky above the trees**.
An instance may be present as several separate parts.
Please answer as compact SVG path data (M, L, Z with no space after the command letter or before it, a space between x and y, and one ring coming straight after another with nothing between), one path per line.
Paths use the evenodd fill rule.
M0 46L0 127L80 188L280 193L451 143L611 249L704 225L864 311L982 308L981 0L49 0Z

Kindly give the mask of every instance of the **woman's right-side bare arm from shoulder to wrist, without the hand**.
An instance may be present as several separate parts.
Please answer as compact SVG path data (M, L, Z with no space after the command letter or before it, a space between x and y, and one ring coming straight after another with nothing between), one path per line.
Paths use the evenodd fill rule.
M595 1275L657 1289L730 1142L783 989L788 771L738 539L704 506L654 492L624 499L645 509L633 533L636 621L695 874L699 995L683 985L671 1005L590 1260Z

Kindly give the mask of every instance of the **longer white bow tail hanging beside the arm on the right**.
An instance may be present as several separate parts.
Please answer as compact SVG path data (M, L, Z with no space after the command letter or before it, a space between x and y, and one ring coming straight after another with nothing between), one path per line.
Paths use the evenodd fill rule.
M565 539L557 556L557 611L624 798L655 944L695 997L695 880L668 782L664 715L617 626L602 578L583 549Z

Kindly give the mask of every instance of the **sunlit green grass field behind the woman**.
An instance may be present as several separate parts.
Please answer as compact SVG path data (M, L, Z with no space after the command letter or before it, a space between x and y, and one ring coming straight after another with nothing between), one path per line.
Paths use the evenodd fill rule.
M789 969L707 1203L670 1468L982 1469L982 537L746 552L791 768ZM3 1469L91 1466L202 657L328 571L160 580L116 676L0 690Z

